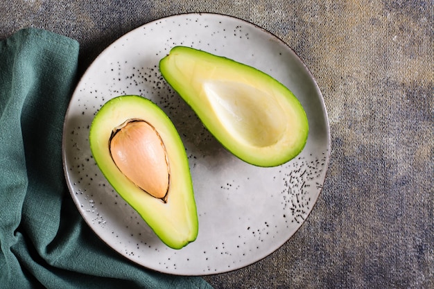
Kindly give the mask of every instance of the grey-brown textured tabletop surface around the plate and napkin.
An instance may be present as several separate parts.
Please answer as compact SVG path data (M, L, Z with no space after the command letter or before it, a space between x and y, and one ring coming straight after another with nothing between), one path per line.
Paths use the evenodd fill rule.
M83 3L82 3L83 2ZM433 1L0 2L0 39L33 26L78 40L80 73L160 17L218 12L284 40L331 125L324 189L302 228L215 288L434 288Z

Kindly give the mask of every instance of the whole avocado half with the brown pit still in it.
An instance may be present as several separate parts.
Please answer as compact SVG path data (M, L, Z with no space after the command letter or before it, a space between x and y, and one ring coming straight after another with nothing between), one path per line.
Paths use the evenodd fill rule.
M92 155L106 179L168 247L196 239L198 216L189 162L168 116L141 96L119 96L97 112Z

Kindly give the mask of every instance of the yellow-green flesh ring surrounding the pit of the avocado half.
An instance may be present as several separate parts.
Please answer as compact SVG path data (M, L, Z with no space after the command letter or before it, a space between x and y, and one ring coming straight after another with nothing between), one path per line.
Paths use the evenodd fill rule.
M166 202L136 186L110 156L112 130L128 119L150 123L164 143L171 174ZM96 164L108 182L166 245L180 249L196 240L198 216L184 145L171 120L157 105L141 96L109 100L92 121L89 142Z

